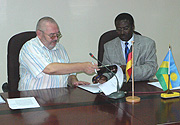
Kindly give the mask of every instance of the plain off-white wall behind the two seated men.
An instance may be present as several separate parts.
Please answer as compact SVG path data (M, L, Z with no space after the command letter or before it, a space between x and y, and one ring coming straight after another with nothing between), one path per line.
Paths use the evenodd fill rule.
M114 18L129 12L136 30L156 41L158 64L171 44L180 69L180 0L0 0L0 85L7 81L7 44L19 32L35 30L37 20L53 17L59 24L62 44L72 62L92 61L100 35L114 29ZM78 75L91 81L92 76ZM0 92L1 87L0 87Z

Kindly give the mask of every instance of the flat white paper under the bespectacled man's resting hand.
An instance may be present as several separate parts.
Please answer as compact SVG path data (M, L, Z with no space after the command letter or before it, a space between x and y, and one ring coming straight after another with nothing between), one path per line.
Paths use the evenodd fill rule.
M85 89L92 93L100 93L101 90L98 87L100 83L97 84L90 84L90 85L78 85L79 88Z

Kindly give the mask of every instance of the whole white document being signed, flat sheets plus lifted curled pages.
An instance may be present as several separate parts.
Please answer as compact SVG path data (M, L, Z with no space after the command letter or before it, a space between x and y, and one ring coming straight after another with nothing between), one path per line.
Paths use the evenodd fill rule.
M107 82L105 82L103 84L98 83L98 84L90 84L90 85L78 85L78 87L85 89L92 93L103 92L105 95L110 95L111 93L116 92L117 91L117 81L119 81L119 88L121 88L122 84L123 84L123 79L124 79L122 69L118 65L116 65L116 66L117 66L117 72L115 74L116 76L113 76Z

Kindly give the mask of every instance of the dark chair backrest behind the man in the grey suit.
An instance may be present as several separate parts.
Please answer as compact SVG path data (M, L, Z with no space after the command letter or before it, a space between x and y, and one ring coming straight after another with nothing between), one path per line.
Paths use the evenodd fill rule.
M135 34L141 35L139 32L134 31ZM118 37L118 34L116 30L110 30L105 33L103 33L99 39L99 45L98 45L98 60L103 61L103 54L104 54L104 44L115 39ZM100 66L101 64L98 62L98 65Z

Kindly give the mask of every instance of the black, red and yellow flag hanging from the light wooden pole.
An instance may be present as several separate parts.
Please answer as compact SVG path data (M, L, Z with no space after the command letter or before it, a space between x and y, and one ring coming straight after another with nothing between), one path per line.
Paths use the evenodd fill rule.
M126 82L129 81L130 77L131 77L131 73L132 73L132 46L129 50L129 54L128 54L128 60L127 60L127 64L126 64Z

